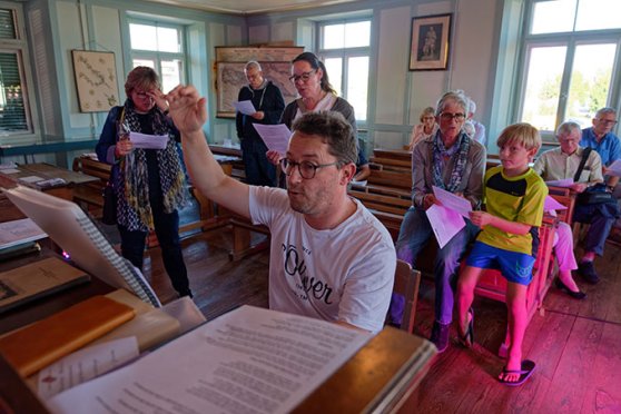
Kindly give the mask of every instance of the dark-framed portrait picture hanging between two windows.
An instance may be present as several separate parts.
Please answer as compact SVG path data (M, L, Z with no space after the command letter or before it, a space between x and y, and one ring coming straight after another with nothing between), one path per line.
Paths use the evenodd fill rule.
M452 14L422 16L412 19L410 70L446 70Z

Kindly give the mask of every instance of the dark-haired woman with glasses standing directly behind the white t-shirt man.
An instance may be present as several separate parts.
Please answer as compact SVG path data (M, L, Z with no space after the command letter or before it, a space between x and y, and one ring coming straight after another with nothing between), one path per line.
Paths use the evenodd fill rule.
M292 129L293 121L306 112L329 110L341 112L352 126L354 137L357 137L356 117L354 107L345 99L337 97L336 91L329 83L328 73L324 63L312 52L298 55L293 60L290 81L294 82L299 98L287 105L280 122ZM278 164L277 151L267 151L267 157L273 164ZM365 180L371 174L371 168L362 148L358 147L358 160L356 162L356 175L353 180Z

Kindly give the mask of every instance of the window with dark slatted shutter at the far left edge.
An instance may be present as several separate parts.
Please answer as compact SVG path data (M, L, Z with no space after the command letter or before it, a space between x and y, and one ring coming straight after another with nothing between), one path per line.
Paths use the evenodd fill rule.
M18 30L16 9L0 6L0 134L32 131L26 95L23 59L26 39Z

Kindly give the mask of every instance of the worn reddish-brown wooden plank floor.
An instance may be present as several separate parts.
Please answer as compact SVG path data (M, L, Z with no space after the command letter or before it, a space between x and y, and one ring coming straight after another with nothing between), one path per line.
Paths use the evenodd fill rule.
M208 319L243 304L267 306L268 253L229 263L227 229L184 240L195 302ZM536 372L521 387L495 378L503 367L496 356L504 338L503 304L476 298L475 346L461 348L452 331L448 349L437 356L415 392L421 413L621 413L621 249L607 244L597 259L601 282L575 300L552 287L533 317L524 357ZM162 270L159 249L150 249L145 275L162 302L176 297ZM433 322L433 285L424 279L416 334L428 337Z

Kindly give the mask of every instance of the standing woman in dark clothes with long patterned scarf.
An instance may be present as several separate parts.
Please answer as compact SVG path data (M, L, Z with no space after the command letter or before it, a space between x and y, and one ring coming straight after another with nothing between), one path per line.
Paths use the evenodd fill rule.
M125 92L127 100L110 109L96 147L99 160L112 165L121 254L141 269L146 238L155 229L172 287L179 296L191 296L177 211L187 200L185 171L177 152L180 134L168 117L168 103L155 70L144 66L131 70ZM160 146L134 145L135 132Z

